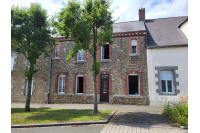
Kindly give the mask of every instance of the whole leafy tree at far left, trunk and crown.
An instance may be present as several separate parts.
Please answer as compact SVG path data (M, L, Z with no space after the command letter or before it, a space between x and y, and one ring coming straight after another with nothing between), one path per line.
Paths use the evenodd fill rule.
M55 44L47 18L47 11L39 3L31 3L30 8L11 7L11 49L23 54L30 63L29 69L24 71L28 80L26 112L30 111L32 76L38 71L34 67L36 60L42 54L48 57Z

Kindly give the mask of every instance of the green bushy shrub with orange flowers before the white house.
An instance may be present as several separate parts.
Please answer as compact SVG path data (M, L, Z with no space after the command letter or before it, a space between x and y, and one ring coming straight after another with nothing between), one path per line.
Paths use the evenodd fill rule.
M179 101L173 107L165 105L162 115L170 118L176 125L188 126L188 103Z

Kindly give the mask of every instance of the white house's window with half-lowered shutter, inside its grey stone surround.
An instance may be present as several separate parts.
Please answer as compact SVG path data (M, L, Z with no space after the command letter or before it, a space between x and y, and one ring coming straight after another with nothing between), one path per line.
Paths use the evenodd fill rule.
M160 71L161 92L173 93L173 74L172 71Z

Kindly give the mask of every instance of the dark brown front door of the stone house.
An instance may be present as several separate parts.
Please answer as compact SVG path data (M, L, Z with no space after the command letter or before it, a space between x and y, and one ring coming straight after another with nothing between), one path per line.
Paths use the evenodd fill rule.
M101 75L100 102L109 102L109 75Z

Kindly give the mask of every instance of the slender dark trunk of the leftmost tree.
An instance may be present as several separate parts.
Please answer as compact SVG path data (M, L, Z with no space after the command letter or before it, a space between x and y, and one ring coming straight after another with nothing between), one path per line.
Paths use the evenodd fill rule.
M33 63L30 63L29 73L33 73ZM30 102L31 102L31 83L32 83L32 75L28 78L28 92L26 96L26 105L25 105L25 112L30 112Z

